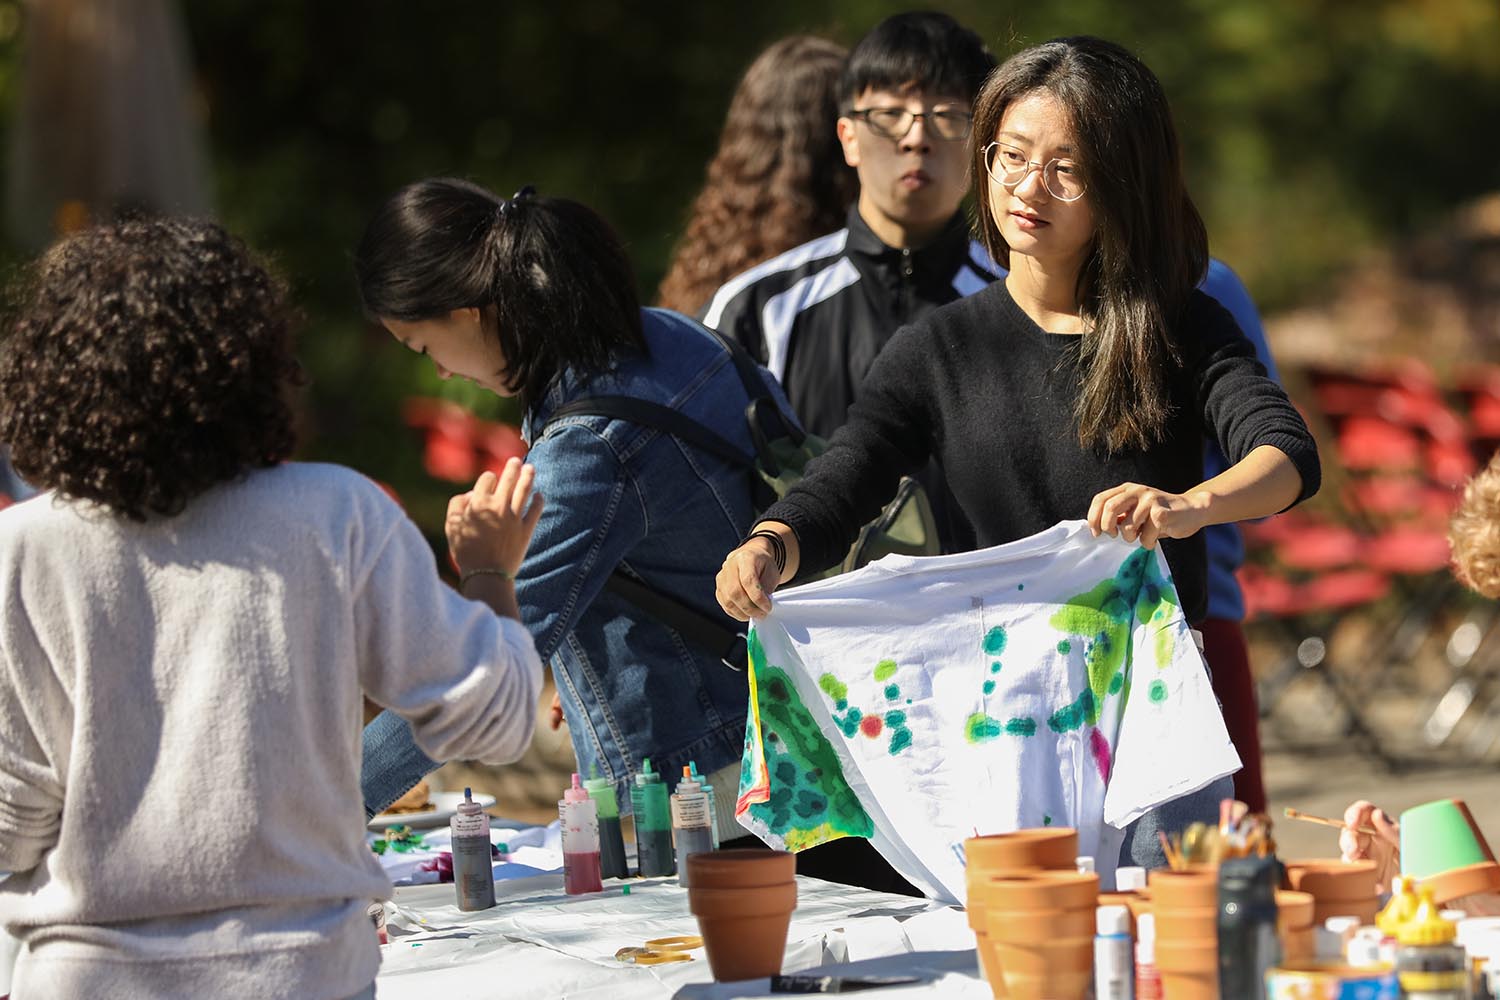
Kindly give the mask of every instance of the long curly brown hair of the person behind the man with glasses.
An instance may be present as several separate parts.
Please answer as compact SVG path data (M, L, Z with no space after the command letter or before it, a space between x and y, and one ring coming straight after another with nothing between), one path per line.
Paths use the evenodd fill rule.
M844 223L860 178L836 127L843 60L834 42L794 34L746 70L660 306L694 313L735 274Z

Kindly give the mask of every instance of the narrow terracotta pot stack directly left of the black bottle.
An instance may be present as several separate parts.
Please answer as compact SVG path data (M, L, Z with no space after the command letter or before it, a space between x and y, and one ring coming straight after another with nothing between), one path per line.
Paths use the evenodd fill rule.
M1218 1000L1218 867L1152 871L1148 885L1167 1000Z

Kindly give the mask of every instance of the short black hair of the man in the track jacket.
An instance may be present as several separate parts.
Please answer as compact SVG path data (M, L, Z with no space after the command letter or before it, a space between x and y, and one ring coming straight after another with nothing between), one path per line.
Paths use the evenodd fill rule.
M838 81L838 105L849 111L866 90L906 87L972 102L994 55L980 36L946 13L897 13L870 30L849 52Z

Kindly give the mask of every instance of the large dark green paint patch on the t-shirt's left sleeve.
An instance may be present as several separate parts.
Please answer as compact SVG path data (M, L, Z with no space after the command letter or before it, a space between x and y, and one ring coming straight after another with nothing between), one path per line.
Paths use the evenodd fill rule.
M752 804L750 814L780 834L789 847L838 837L870 837L874 823L849 789L838 754L802 705L792 679L766 663L754 633L748 649L760 696L765 763L772 777L770 801ZM814 834L816 840L808 843Z

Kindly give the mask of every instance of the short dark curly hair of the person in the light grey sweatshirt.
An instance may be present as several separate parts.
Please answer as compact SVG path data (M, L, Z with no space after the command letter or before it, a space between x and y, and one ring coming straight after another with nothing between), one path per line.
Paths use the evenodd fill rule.
M0 357L0 441L33 484L177 514L296 445L286 289L212 222L130 219L54 244Z

